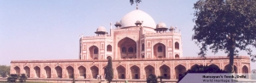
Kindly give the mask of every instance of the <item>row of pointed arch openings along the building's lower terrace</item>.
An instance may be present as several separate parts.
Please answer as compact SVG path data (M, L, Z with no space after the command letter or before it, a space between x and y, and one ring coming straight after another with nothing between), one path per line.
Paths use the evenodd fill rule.
M195 65L191 66L190 69L192 69L192 68L195 67L195 66L199 66L199 65L198 65L198 64L195 64ZM218 67L218 66L215 65L215 64L211 64L211 65L209 65L209 66ZM20 68L16 66L14 69L15 69L15 73L19 75L19 74L20 74ZM27 66L24 67L24 69L25 69L26 76L27 76L28 78L30 78L30 77L31 77L31 74L30 74L31 69L30 69L29 67L27 67ZM34 69L34 75L35 75L34 77L36 77L36 78L42 78L42 77L40 77L40 74L42 73L42 72L40 71L40 68L39 68L38 66L36 66L36 67L34 67L33 69ZM79 69L79 77L85 79L85 77L86 77L86 69L84 68L84 66L80 66L78 69ZM104 69L104 68L103 68L103 69ZM187 69L186 69L183 65L181 65L181 64L177 65L174 69L175 69L176 79L178 79L179 76L182 75L183 73L185 73L186 70L187 70ZM227 65L226 65L226 66L224 67L224 70L227 70L227 69L228 69L228 68L227 68ZM236 65L234 65L234 69L235 69L235 73L237 73ZM52 75L52 74L51 74L51 68L50 68L49 66L46 66L46 67L44 67L44 70L45 70L44 75L46 75L46 78L51 78L51 75ZM92 77L96 79L96 76L99 75L99 69L98 69L96 66L92 66L92 67L90 67L90 70L91 70ZM133 65L133 66L131 66L130 70L131 70L132 79L140 79L140 72L141 72L141 71L140 71L140 68L139 68L138 66ZM154 67L151 66L151 65L146 66L146 67L144 68L144 70L145 70L146 77L148 77L148 75L150 75L150 74L155 75L155 69L154 69ZM55 72L56 72L56 75L55 75L56 78L62 78L62 73L63 73L63 72L62 72L62 68L61 68L60 66L55 67ZM124 66L119 65L119 66L117 67L117 72L118 72L118 79L125 79L125 78L126 78L126 77L125 77L125 75L126 75L126 69L125 69ZM248 68L247 68L247 66L244 65L244 66L242 67L242 73L248 73ZM74 74L74 69L73 69L73 67L72 67L72 66L68 66L68 67L67 67L67 75L68 75L68 78L73 78L73 74ZM163 79L170 79L170 78L171 78L170 74L171 74L171 69L170 69L170 67L168 67L168 66L166 66L166 65L160 66L160 75L164 77Z

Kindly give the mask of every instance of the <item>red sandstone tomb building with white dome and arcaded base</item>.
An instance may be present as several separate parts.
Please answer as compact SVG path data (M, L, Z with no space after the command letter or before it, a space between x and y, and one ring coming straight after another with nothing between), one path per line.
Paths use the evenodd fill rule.
M114 79L145 80L149 74L176 80L178 75L195 65L211 65L227 69L229 58L183 57L181 32L166 28L141 10L126 14L116 29L104 27L96 36L81 36L79 59L11 61L11 74L26 74L29 78L96 79L104 75L108 57L113 58ZM250 58L235 58L235 72L249 73Z

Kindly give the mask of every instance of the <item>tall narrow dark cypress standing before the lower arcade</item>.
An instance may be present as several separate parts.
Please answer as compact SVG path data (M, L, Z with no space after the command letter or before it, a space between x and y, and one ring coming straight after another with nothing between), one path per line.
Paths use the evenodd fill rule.
M110 83L113 80L113 66L112 66L112 58L108 58L108 65L104 69L104 73L106 75L105 79Z

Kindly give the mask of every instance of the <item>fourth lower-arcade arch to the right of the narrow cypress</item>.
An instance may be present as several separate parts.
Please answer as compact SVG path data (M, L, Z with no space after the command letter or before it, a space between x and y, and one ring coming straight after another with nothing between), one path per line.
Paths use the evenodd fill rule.
M160 75L163 76L163 79L171 79L171 69L167 65L160 66Z

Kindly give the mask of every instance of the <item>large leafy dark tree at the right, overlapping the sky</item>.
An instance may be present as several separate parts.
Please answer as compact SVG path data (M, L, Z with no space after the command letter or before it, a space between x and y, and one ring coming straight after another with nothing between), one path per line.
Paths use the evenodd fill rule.
M234 72L234 56L241 50L255 62L250 48L256 47L255 0L199 0L194 8L192 40L200 47L201 57L206 56L207 49L228 53L230 73Z

